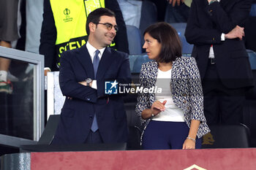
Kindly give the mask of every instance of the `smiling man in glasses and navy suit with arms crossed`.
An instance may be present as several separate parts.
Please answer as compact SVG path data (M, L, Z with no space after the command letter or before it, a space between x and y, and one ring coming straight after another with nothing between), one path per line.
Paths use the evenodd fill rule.
M107 47L117 29L110 9L96 9L87 18L86 45L62 53L59 84L67 97L53 144L127 142L123 99L105 94L105 80L131 82L127 53Z

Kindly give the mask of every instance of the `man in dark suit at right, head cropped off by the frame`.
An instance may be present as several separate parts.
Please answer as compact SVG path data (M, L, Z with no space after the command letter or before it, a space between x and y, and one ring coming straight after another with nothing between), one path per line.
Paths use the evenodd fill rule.
M194 44L203 79L206 120L241 123L246 88L253 85L244 46L251 0L193 0L185 36Z

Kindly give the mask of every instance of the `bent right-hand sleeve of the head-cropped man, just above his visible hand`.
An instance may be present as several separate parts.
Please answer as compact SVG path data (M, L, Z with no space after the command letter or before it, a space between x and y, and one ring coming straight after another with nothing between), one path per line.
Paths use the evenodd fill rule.
M233 2L230 2L230 4L231 3ZM244 21L248 18L250 9L251 0L236 1L228 13L225 12L219 2L214 2L206 7L206 11L211 20L217 24L219 31L225 34L230 32L237 25L244 26Z

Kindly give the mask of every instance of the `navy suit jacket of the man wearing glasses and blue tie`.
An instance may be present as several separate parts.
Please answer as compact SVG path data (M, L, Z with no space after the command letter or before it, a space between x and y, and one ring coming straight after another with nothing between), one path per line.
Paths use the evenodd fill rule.
M80 85L94 80L94 69L86 45L61 54L59 84L66 97L53 144L81 144L89 134L94 113L103 142L127 142L127 115L119 95L105 95L105 80L130 83L126 53L106 47L97 71L97 90Z

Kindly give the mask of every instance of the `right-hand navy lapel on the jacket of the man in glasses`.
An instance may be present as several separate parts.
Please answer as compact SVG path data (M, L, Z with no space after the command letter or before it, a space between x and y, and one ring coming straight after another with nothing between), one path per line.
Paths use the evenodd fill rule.
M111 55L110 47L106 47L104 53L102 54L102 58L99 61L99 67L97 71L97 79L102 79L105 72L107 72L108 68L113 63L113 55Z

